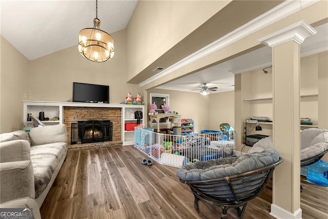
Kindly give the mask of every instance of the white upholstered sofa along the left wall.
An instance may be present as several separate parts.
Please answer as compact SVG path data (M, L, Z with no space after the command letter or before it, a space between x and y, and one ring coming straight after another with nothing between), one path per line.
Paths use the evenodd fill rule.
M25 202L35 208L35 199L40 208L65 161L67 146L65 125L0 134L0 207Z

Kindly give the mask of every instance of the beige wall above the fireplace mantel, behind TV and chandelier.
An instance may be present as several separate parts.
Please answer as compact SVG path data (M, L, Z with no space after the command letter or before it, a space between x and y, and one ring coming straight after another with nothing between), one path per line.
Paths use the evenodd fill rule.
M134 84L127 84L126 31L112 34L115 41L115 55L105 63L94 63L78 53L77 46L70 47L29 62L30 100L69 101L73 95L73 82L110 86L110 103L125 100L131 91L135 97L143 90Z

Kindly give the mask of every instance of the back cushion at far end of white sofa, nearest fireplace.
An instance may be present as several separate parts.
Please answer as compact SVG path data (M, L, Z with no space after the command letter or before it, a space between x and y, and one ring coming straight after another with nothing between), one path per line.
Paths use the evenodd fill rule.
M46 137L45 137L46 136ZM64 124L35 127L30 131L31 146L56 142L67 142L67 129Z

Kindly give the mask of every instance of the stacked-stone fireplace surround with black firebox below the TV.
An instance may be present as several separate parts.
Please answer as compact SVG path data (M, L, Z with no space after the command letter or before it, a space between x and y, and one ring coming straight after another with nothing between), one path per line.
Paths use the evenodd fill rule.
M95 121L101 121L101 123L95 125ZM67 127L69 149L122 145L120 108L65 106L64 124ZM80 136L78 126L84 127L83 134L80 133ZM99 132L100 129L102 133Z

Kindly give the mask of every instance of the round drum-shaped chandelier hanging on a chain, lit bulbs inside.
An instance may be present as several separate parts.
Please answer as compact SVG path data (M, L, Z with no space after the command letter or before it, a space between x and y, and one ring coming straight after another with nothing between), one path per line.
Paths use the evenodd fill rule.
M100 30L98 19L98 0L96 0L96 18L93 28L85 28L78 33L78 51L93 62L106 62L114 56L114 40L105 31Z

